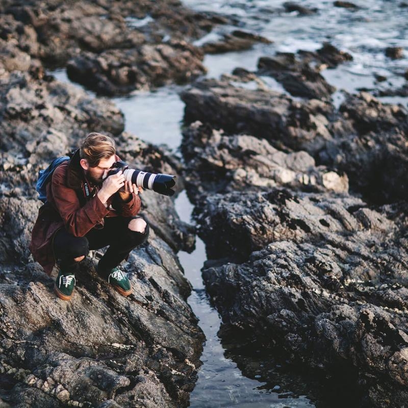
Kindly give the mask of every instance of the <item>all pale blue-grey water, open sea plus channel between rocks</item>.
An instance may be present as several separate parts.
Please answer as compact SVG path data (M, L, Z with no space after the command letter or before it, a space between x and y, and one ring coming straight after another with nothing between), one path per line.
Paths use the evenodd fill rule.
M404 83L401 72L407 68L408 56L408 7L400 7L399 1L367 0L360 10L350 12L333 7L333 2L317 0L298 1L302 6L317 7L317 15L300 17L297 13L284 13L282 3L273 0L215 1L186 0L189 7L203 11L217 11L239 19L239 28L264 35L274 41L270 45L260 44L246 52L234 52L206 56L208 77L218 78L230 73L237 66L255 70L258 58L273 55L276 51L296 52L298 49L316 50L323 41L331 41L342 50L352 54L354 60L334 70L326 70L326 80L338 87L334 95L335 104L340 104L342 89L354 92L365 87L399 87ZM279 9L280 7L280 9ZM280 10L280 11L279 11ZM325 24L321 19L325 19ZM237 28L237 27L235 27ZM210 34L213 38L234 27L224 26ZM205 40L205 39L204 39ZM203 42L204 40L199 40ZM198 42L199 43L199 42ZM405 58L392 61L384 56L386 46L404 47ZM374 73L387 77L385 84L375 83ZM69 82L64 70L54 72L57 79ZM270 78L264 78L270 88L283 91ZM184 104L179 98L182 87L164 87L154 92L133 92L126 97L112 98L125 115L125 130L154 144L167 144L173 151L181 143L181 124ZM385 97L383 101L407 106L408 98ZM175 200L180 217L190 222L192 205L185 192ZM179 253L186 277L193 286L188 299L199 318L199 325L206 335L201 356L203 365L198 381L191 393L191 406L196 408L216 407L311 407L313 403L304 396L279 398L275 391L278 384L266 385L262 378L245 377L237 364L225 357L225 350L217 335L220 317L211 306L202 283L200 269L206 261L205 245L197 237L193 253ZM253 350L254 352L256 350ZM259 379L257 379L259 377ZM271 380L269 378L269 380ZM282 395L281 395L282 397Z

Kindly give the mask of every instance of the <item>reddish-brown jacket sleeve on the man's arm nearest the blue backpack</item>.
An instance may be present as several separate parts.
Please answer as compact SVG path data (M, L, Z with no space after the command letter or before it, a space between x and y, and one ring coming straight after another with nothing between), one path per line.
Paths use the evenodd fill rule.
M59 212L66 230L75 237L83 237L109 210L97 196L81 207L75 190L66 186L65 172L59 166L53 174L51 193L54 206Z

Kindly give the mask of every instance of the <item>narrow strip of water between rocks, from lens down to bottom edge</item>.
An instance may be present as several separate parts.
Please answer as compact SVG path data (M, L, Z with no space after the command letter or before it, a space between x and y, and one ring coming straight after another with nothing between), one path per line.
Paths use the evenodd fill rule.
M185 192L176 198L175 207L182 220L190 222L193 207ZM269 385L261 381L260 373L256 372L253 375L253 378L260 378L260 380L245 377L237 364L225 357L225 349L218 337L221 319L210 304L201 278L200 269L207 259L204 243L197 238L195 250L190 254L180 252L179 259L186 277L193 286L188 303L199 318L199 325L207 339L200 359L203 365L190 396L190 406L196 408L228 406L240 408L253 408L254 406L257 408L288 406L310 408L313 406L305 397L279 398L279 394L276 392L279 390L279 386L277 389L275 388L275 391L271 391ZM256 353L256 349L253 349L252 352ZM274 386L276 385L273 385L272 388Z

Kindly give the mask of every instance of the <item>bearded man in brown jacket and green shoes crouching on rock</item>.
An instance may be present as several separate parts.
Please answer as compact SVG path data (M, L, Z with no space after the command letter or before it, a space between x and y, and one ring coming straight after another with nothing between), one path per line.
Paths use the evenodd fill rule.
M121 171L106 177L116 156L109 136L90 133L70 160L60 164L46 186L47 202L40 208L30 250L47 274L55 263L59 273L55 292L69 300L78 263L90 249L109 245L97 273L120 294L132 286L119 268L132 249L146 241L149 227L136 217L140 210L138 187L125 182Z

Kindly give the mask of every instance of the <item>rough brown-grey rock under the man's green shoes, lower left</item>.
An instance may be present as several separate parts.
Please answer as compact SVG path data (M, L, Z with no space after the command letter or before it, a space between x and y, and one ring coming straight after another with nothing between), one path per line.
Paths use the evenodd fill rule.
M16 210L21 198L4 205ZM54 279L35 263L2 270L2 400L27 406L23 398L33 393L36 406L99 406L107 399L129 407L187 405L203 336L184 301L190 287L174 254L154 233L134 251L125 265L134 287L129 298L101 281L95 266L83 263L69 303L56 298Z

